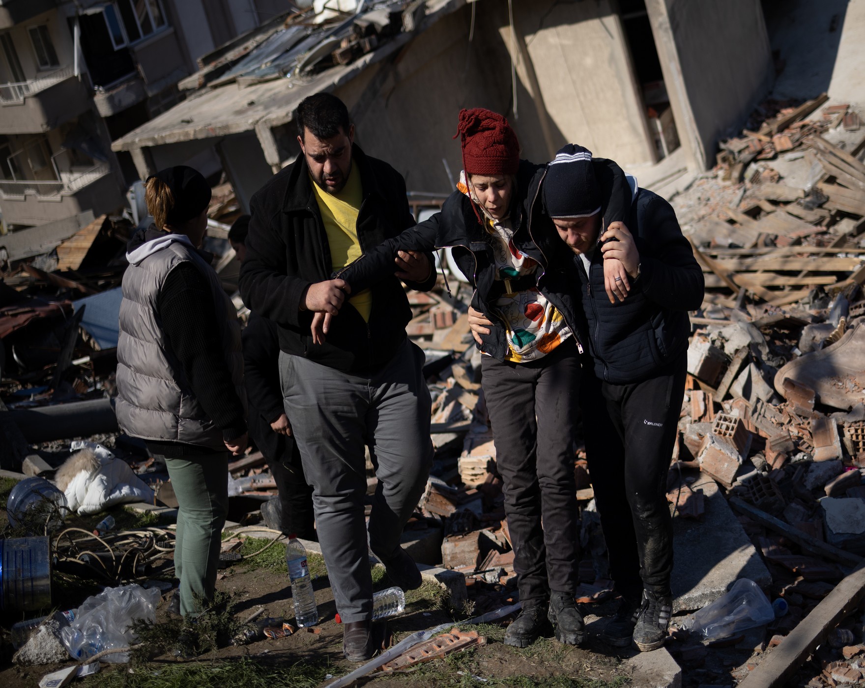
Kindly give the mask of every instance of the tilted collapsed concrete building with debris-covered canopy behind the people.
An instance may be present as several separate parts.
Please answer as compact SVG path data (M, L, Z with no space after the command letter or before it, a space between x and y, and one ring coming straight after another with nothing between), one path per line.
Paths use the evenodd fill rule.
M248 209L298 155L298 102L328 90L349 106L357 142L417 192L453 188L457 113L471 106L505 113L529 159L578 142L638 176L662 160L702 171L773 77L759 0L339 0L342 14L325 19L321 5L336 3L202 58L178 84L187 98L113 150L141 178L219 158Z

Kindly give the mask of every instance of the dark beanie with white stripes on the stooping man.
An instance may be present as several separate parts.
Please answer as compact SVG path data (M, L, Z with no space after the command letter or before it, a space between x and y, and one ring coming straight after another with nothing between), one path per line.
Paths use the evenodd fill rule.
M543 179L543 202L550 217L587 217L600 211L592 151L568 144L555 154Z

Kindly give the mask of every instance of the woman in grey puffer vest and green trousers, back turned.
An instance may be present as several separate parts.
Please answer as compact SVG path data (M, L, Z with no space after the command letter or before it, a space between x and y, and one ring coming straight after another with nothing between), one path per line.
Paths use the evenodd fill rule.
M162 456L180 505L179 596L195 615L213 599L228 509L228 459L247 446L240 325L200 247L210 187L190 167L146 182L153 224L132 236L123 276L117 419Z

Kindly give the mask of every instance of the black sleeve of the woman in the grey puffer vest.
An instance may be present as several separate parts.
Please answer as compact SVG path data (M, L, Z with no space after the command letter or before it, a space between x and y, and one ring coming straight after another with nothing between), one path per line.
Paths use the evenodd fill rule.
M157 308L171 350L204 412L221 428L224 440L240 437L247 432L243 404L220 348L213 294L202 273L188 262L177 266L165 278Z

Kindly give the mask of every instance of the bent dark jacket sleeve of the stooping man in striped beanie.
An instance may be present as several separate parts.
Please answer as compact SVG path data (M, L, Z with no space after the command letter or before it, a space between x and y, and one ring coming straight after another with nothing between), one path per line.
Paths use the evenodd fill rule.
M637 241L640 279L646 298L674 311L696 311L705 282L689 241L682 235L676 211L660 196L650 200L641 224L646 239Z

